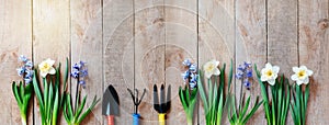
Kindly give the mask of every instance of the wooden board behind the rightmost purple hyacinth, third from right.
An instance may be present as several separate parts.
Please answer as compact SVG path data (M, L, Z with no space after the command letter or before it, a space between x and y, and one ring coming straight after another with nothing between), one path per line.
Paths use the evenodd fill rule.
M259 67L266 63L266 8L264 0L237 0L236 1L236 67L249 61ZM251 95L251 105L260 95L259 83L254 81L251 90L243 89L247 95ZM240 95L240 81L237 80L237 95ZM243 87L245 88L245 87ZM266 124L263 107L261 106L249 124Z

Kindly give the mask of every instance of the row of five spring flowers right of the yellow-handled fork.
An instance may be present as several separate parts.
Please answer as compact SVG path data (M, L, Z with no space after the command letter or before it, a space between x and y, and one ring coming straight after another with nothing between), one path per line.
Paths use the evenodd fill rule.
M257 65L252 68L250 63L245 61L238 66L235 75L232 63L230 63L228 76L225 75L226 64L219 66L217 60L206 63L202 69L189 59L183 61L183 66L186 67L186 71L182 73L185 87L180 88L179 95L189 125L193 124L197 93L203 103L207 125L220 125L224 112L227 113L231 125L245 125L261 105L264 107L269 125L286 124L288 111L295 125L305 125L309 96L308 83L313 75L306 66L292 68L294 75L291 79L295 82L293 84L290 83L288 78L280 75L279 66L272 66L270 63L259 71ZM251 90L254 81L253 69L257 75L256 81L261 88L262 100L257 96L253 105L250 106L251 95L246 98L246 91ZM237 79L236 82L240 81L239 95L231 88L234 76ZM235 87L238 84L236 83ZM269 88L271 92L268 91Z

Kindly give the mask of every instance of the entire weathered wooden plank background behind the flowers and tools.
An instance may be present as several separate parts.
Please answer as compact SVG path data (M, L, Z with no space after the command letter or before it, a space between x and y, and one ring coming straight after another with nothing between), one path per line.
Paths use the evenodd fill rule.
M138 109L141 124L157 124L152 86L162 83L172 91L168 125L186 124L178 96L185 58L198 66L209 59L259 67L270 61L286 76L291 67L306 65L315 72L307 124L329 124L329 0L1 0L0 27L3 124L21 122L10 89L20 79L21 54L35 64L46 58L65 63L66 57L70 64L87 61L88 103L113 84L121 98L120 125L133 121L127 88L147 89ZM75 92L73 80L70 86ZM260 95L258 83L248 94ZM39 125L35 99L32 105L29 124ZM58 123L66 124L63 117ZM105 124L101 103L82 123ZM194 123L205 124L201 103ZM249 124L265 125L262 107ZM290 115L287 124L293 124Z

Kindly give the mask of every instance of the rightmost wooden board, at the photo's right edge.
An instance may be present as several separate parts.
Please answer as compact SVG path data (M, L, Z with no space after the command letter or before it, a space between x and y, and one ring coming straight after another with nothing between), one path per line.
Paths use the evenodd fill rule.
M329 1L299 0L299 65L314 71L307 109L307 124L329 124Z

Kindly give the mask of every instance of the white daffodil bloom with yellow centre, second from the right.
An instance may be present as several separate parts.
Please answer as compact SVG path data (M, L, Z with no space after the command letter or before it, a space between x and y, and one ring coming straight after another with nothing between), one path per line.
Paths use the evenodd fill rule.
M261 70L261 81L268 81L269 84L274 86L277 78L280 67L272 66L270 63Z

